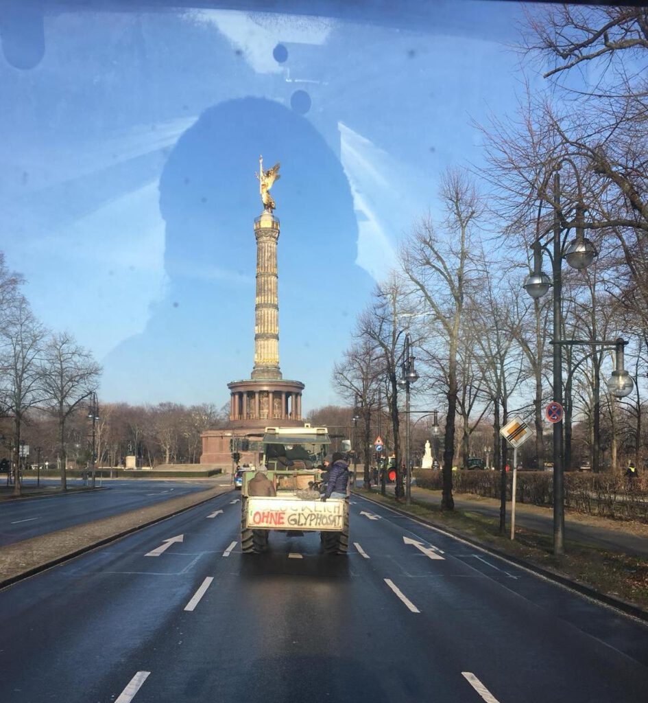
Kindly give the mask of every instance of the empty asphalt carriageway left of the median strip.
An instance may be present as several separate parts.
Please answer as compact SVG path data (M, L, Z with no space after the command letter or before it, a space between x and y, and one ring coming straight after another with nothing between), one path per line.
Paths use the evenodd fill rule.
M105 481L107 487L98 491L4 501L0 503L0 546L179 498L214 483L230 485L227 477L215 482L113 480Z

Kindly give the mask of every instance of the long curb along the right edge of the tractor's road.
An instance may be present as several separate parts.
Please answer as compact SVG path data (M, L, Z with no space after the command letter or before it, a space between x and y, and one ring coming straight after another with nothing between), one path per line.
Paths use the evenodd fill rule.
M373 498L365 496L364 494L358 494L355 491L354 493L359 498L364 498L370 503L374 503L375 505L382 505L384 508L388 508L388 510L393 510L399 515L403 515L404 517L410 517L412 520L418 520L418 522L423 522L423 524L426 524L429 527L433 527L439 532L444 532L451 537L461 539L462 541L472 545L473 547L477 547L478 549L486 552L487 554L491 554L494 557L498 557L499 559L505 562L510 562L511 564L517 567L526 569L527 571L532 572L537 576L541 576L547 581L553 581L553 583L557 583L563 588L568 588L569 591L576 591L576 593L578 593L579 595L584 595L590 600L599 602L602 605L606 605L607 607L613 608L614 610L619 610L625 615L630 615L630 617L634 617L637 620L641 620L642 622L648 624L648 612L642 610L636 605L632 605L631 603L626 602L625 600L612 598L611 595L605 595L604 593L600 593L600 591L595 591L595 589L590 588L590 586L585 586L582 583L578 583L577 581L571 581L571 579L568 579L567 576L555 574L554 572L550 572L547 569L543 569L543 567L538 567L535 564L532 564L531 562L527 562L523 559L520 559L520 557L515 557L508 553L502 552L501 550L495 549L491 546L484 545L483 543L478 542L477 540L472 539L468 536L465 536L461 532L451 527L446 527L445 525L432 522L432 520L428 520L427 518L421 517L419 515L412 515L411 512L406 512L406 510L395 508L392 505L385 505L385 503L382 503L381 501L376 501ZM418 505L421 505L421 503L418 503Z

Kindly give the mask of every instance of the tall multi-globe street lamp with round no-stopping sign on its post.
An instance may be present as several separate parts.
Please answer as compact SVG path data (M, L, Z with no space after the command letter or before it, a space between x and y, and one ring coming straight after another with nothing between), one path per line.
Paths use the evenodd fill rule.
M560 167L563 162L568 162L574 169L576 176L576 185L578 188L578 201L575 207L574 226L576 228L576 238L572 240L566 247L562 247L562 232L569 231L571 223L564 219L562 209L560 207ZM549 176L551 175L551 172ZM548 184L548 179L543 183L543 189ZM541 194L541 202L538 205L538 229L541 214L542 201L544 200ZM567 264L573 269L583 271L594 259L598 252L596 247L590 240L584 236L585 224L584 217L586 207L583 204L583 191L581 181L578 177L578 169L574 162L564 158L557 162L553 167L553 226L547 231L553 231L553 237L544 245L541 243L541 233L536 233L534 241L534 270L527 276L524 281L524 290L534 299L541 298L545 295L549 288L553 286L553 400L562 405L562 346L565 344L586 344L590 346L608 347L610 344L616 345L616 370L612 372L612 377L608 382L608 388L611 394L617 397L628 395L633 388L633 382L628 372L623 369L623 346L617 344L619 340L609 342L607 340L590 340L588 342L580 342L578 340L561 340L562 332L562 259L567 261ZM553 278L542 271L542 250L548 249L550 243L553 243L553 252L551 255L553 266ZM628 387L629 382L629 387ZM563 466L563 428L562 419L560 422L553 425L553 550L555 554L564 554L564 466Z

